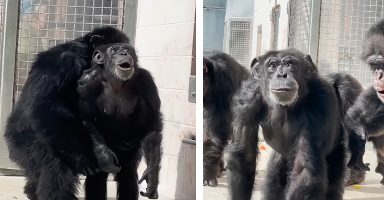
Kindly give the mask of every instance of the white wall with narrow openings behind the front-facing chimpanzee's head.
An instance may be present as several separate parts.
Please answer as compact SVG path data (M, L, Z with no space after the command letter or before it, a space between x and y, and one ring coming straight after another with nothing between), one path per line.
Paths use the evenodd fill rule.
M279 37L278 49L287 48L288 42L288 14L287 14L288 0L278 0L276 5L280 5L280 18L279 18ZM261 54L273 49L273 23L270 20L272 8L275 6L275 1L268 0L255 0L253 20L253 34L252 34L252 58L256 56L257 42L258 42L258 26L263 24L262 29L262 44Z

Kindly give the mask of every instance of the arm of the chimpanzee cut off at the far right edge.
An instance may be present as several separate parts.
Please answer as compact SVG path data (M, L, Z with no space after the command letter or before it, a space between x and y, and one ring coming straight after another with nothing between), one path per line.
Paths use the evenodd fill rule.
M362 161L365 143L369 136L380 136L384 129L384 104L373 86L364 91L348 109L344 123L348 130L349 148L352 153L348 167L357 172L369 171L369 167Z

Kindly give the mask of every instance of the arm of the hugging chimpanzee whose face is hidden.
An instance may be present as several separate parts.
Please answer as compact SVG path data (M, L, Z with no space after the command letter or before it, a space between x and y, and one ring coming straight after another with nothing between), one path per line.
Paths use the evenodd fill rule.
M24 88L24 98L30 99L32 129L77 173L93 173L98 164L103 165L73 107L77 103L74 84L88 66L87 49L85 44L69 42L39 54Z

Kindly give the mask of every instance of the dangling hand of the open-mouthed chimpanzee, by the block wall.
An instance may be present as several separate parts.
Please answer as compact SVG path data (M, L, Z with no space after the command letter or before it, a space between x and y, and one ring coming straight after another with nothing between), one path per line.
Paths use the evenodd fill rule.
M146 181L147 188L146 192L140 191L141 196L146 196L149 199L158 199L159 194L157 193L157 186L159 184L159 177L157 171L152 171L151 169L146 168L143 176L139 180L139 184L141 184L144 180Z

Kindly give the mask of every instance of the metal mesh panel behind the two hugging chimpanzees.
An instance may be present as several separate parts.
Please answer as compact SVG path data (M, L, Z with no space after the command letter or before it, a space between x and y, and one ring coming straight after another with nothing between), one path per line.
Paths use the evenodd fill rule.
M15 0L16 1L16 0ZM38 52L105 25L122 28L123 0L21 0L14 101Z

